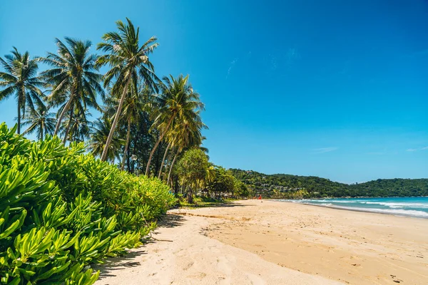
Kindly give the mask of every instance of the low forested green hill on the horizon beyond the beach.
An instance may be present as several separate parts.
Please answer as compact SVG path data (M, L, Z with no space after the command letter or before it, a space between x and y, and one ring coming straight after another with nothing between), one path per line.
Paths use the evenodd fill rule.
M230 169L233 175L265 197L392 197L428 196L428 179L378 179L348 185L316 176L274 174Z

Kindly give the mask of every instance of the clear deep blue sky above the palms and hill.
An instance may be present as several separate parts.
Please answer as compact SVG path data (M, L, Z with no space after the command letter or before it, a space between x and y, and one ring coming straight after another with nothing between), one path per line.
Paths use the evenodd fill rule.
M428 1L0 1L0 56L98 43L125 17L158 37L158 76L190 74L215 164L428 177ZM13 98L0 110L13 125Z

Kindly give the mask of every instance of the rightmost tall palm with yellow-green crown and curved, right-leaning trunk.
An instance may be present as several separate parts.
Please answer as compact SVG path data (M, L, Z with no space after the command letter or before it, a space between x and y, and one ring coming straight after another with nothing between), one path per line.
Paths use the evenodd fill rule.
M192 86L188 84L188 78L189 76L183 77L183 75L178 76L177 79L171 75L169 78L166 76L163 78L165 84L161 85L162 93L157 98L160 108L155 113L156 117L153 123L153 126L160 130L161 135L159 135L148 157L146 175L149 174L153 153L168 132L173 120L178 120L177 125L185 118L193 120L198 117L196 115L198 110L204 108L203 103L199 100L199 94L193 92Z

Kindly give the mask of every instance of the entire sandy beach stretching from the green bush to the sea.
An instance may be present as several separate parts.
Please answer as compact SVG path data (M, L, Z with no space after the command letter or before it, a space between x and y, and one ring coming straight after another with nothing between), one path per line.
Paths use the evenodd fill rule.
M428 219L263 200L174 209L96 284L427 284Z

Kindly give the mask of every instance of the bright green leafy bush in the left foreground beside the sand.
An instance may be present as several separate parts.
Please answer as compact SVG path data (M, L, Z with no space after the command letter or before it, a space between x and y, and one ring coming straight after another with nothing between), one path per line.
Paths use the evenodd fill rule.
M175 202L58 138L31 142L0 125L0 284L93 284L88 264L141 244Z

